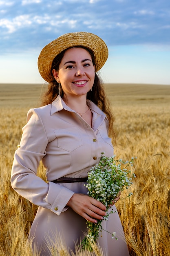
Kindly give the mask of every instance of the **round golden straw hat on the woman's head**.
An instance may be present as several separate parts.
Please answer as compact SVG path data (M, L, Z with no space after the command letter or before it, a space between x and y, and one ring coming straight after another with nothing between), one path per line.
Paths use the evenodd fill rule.
M46 45L38 57L38 70L45 81L51 82L51 65L53 59L63 50L73 46L84 46L91 49L95 57L95 71L103 67L108 58L108 48L104 41L88 32L64 34Z

